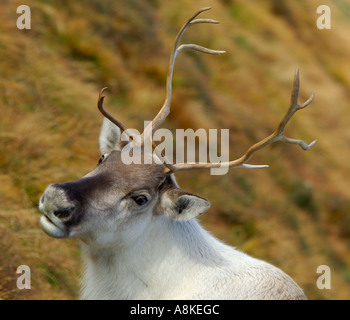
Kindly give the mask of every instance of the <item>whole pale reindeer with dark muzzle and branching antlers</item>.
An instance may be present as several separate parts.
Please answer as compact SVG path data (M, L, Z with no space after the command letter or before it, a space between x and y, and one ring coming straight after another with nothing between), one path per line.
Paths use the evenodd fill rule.
M178 33L171 54L165 102L139 139L130 139L134 152L144 144L170 112L172 74L183 50L208 54L223 51L195 44L179 45L186 29L195 24L218 23L193 15ZM55 238L82 242L84 272L82 299L306 299L303 290L277 267L232 248L204 230L196 217L209 202L181 189L174 173L219 167L220 163L170 163L165 156L146 152L152 164L126 165L121 159L121 134L127 127L106 111L102 89L98 108L104 115L99 144L102 154L94 170L74 182L49 185L39 200L43 230ZM252 155L276 142L310 145L287 138L284 129L297 110L299 71L291 102L277 129L251 146L244 155L226 163L230 168L263 168L247 164ZM154 145L153 145L154 147ZM153 149L153 148L152 148ZM159 163L162 160L162 163Z

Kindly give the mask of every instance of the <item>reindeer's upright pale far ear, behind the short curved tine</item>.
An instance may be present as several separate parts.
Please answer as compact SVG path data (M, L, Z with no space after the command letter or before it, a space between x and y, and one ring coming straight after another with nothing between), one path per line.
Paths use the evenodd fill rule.
M107 118L104 118L99 138L101 154L121 150L123 144L120 141L120 136L120 129Z

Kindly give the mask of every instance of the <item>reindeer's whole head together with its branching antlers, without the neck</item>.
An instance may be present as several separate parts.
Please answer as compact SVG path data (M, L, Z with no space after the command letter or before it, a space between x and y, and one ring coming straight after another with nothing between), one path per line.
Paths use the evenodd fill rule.
M180 189L173 173L181 170L215 168L222 166L222 163L172 164L157 152L154 144L154 152L147 151L144 147L145 141L170 112L171 83L176 56L188 49L216 55L224 53L195 44L179 46L181 37L188 27L199 23L218 23L211 19L195 19L200 13L209 9L203 8L198 11L180 30L170 58L165 102L139 139L128 142L133 152L140 152L144 160L151 161L129 165L122 161L122 149L125 143L121 141L121 134L127 132L128 128L104 109L105 89L102 89L98 98L98 108L105 116L99 139L102 157L96 168L81 179L47 187L39 201L39 209L43 213L40 222L47 234L56 238L77 237L101 246L124 245L144 232L153 218L168 216L171 219L184 221L197 217L209 208L210 204L206 199ZM303 141L284 136L284 129L289 119L297 110L309 105L313 99L312 96L300 106L297 102L298 93L297 71L290 107L277 129L250 147L242 157L225 165L231 168L264 168L266 166L250 165L246 162L257 150L276 141L298 144L305 150L311 148L316 141L307 145Z

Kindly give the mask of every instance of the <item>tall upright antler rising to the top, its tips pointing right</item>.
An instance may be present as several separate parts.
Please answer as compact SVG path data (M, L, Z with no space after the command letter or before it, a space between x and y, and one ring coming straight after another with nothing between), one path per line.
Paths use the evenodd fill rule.
M166 98L164 101L164 104L156 117L153 119L153 121L145 128L144 132L141 136L141 145L144 144L145 140L149 139L149 136L157 129L159 126L164 122L166 117L170 113L170 103L171 103L171 97L172 97L172 77L173 77L173 71L174 71L174 65L177 55L183 51L183 50L196 50L202 53L206 54L212 54L212 55L219 55L225 53L225 51L220 50L212 50L208 49L206 47L202 47L196 44L183 44L179 46L179 42L181 41L181 38L185 31L195 24L199 23L212 23L212 24L218 24L219 21L212 20L212 19L195 19L199 14L201 14L204 11L210 10L211 7L205 7L200 9L198 12L196 12L180 29L179 33L176 36L175 43L174 43L174 49L170 56L169 61L169 71L167 75L167 84L166 84Z

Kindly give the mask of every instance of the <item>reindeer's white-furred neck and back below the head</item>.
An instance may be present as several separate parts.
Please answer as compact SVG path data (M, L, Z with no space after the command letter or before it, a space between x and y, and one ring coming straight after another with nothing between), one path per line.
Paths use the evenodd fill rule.
M82 299L305 299L280 269L229 247L195 219L152 217L124 247L83 244Z

